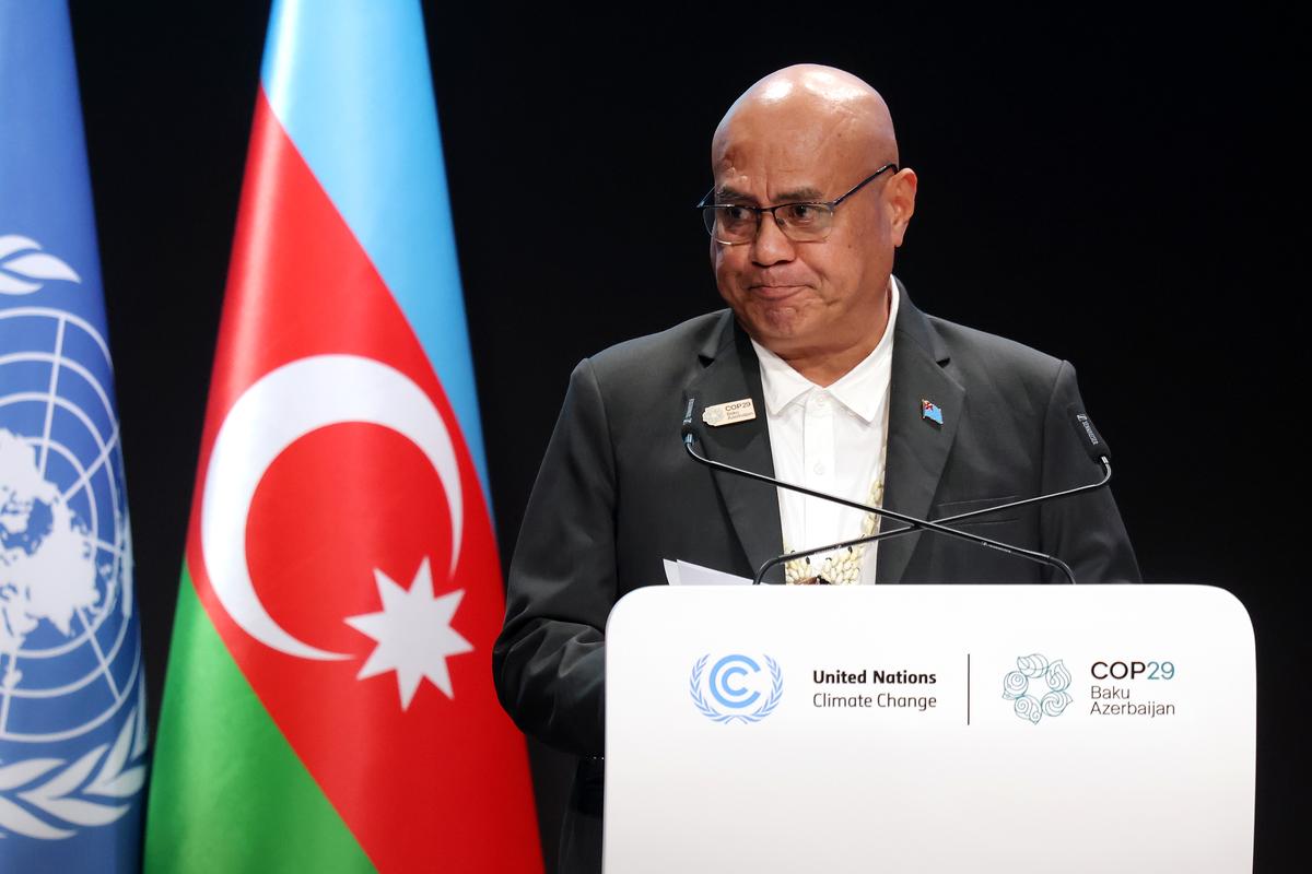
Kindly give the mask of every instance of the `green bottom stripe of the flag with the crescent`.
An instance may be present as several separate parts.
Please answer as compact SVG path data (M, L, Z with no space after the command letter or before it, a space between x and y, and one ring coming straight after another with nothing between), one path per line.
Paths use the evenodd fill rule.
M373 871L201 607L173 624L146 820L146 871Z

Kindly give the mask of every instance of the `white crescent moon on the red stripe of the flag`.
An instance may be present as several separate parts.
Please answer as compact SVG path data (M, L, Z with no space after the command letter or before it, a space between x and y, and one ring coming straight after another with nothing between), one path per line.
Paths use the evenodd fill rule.
M201 554L228 616L265 646L303 659L352 656L310 646L269 616L251 583L247 516L273 460L311 431L341 422L380 425L424 452L451 510L453 573L461 553L464 503L455 447L419 385L392 367L357 355L302 358L265 375L232 405L214 440L201 498Z

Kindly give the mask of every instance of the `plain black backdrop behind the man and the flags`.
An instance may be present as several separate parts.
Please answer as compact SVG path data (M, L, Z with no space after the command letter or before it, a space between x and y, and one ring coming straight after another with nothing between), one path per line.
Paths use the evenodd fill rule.
M180 7L72 4L152 710L268 20ZM916 304L1073 360L1145 578L1223 586L1252 615L1258 867L1296 858L1305 22L1105 4L425 16L504 560L572 366L719 305L690 206L724 109L789 63L844 67L886 96L920 174L896 269ZM547 784L559 767L539 759Z

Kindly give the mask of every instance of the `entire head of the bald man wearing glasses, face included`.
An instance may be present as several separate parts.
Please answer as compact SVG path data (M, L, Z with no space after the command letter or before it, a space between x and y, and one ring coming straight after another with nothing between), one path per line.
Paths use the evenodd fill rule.
M714 208L747 207L757 219L750 238L716 237L712 227L720 295L754 341L829 385L884 333L893 250L916 207L916 174L900 166L888 106L851 73L787 67L726 113L711 172ZM781 215L782 206L792 208ZM817 214L828 216L819 238L790 218Z

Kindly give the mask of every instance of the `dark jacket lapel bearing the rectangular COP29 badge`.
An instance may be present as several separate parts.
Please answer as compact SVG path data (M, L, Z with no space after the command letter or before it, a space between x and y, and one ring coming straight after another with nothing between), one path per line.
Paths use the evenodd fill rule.
M685 388L685 402L695 398L693 422L697 426L702 452L715 461L736 468L774 476L774 457L770 453L770 432L765 419L765 396L761 390L761 367L752 342L726 313L720 332L699 352L706 363L703 370ZM720 427L702 422L707 406L740 401L750 397L756 418ZM779 499L773 486L753 482L720 470L712 472L715 486L733 523L747 561L753 573L764 562L783 549L779 525ZM766 575L768 582L783 582L783 570L775 567Z

